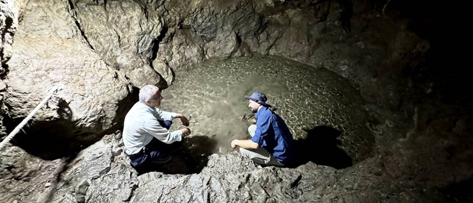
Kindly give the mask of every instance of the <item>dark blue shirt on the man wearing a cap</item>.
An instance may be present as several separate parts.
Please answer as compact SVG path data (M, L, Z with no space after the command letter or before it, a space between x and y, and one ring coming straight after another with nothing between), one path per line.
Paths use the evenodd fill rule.
M271 109L261 107L255 115L256 131L251 139L279 162L288 164L294 156L294 140L284 120Z

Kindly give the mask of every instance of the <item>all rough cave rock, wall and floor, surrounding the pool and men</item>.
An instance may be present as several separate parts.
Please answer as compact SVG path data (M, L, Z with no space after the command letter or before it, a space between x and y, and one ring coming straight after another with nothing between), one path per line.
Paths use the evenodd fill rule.
M449 12L457 11L450 8L455 4L419 0L15 3L21 25L7 61L10 73L0 83L2 115L7 115L3 125L11 128L24 117L53 82L74 80L74 85L64 84L65 102L49 103L26 129L33 138L39 135L33 132L43 130L41 140L54 135L58 141L59 134L67 134L74 142L55 142L55 147L67 149L65 153L38 140L24 141L32 137L17 138L19 147L9 146L0 154L0 201L472 200L471 72L459 71L464 65L457 65L453 57L457 48L452 45L459 43L451 42L458 38L452 30L458 19ZM4 7L0 8L5 16ZM126 108L120 107L128 104L123 100L129 89L123 78L135 87L165 86L192 77L185 70L211 57L254 53L326 67L351 81L368 104L375 156L340 170L312 162L295 168L259 168L238 153L210 155L196 149L194 144L200 141L208 148L212 143L194 135L188 148L198 151L189 156L197 160L197 170L137 176L121 151L120 133L105 136L77 156L64 144L87 146L90 143L75 138L98 139L89 133L104 133L119 123L113 118L123 116ZM54 128L41 128L51 123ZM68 134L64 129L78 131ZM0 131L5 134L5 129ZM42 153L25 143L41 146Z

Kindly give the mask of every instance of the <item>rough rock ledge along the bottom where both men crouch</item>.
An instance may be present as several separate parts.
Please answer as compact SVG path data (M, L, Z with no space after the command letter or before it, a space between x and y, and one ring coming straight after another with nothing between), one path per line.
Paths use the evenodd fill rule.
M390 128L378 127L380 130ZM456 126L462 127L466 126ZM445 180L463 180L470 176L463 171L468 166L450 167L445 163L463 163L461 159L468 157L464 154L457 156L460 159L449 160L442 150L452 147L452 144L446 145L446 139L427 141L429 147L419 149L432 130L439 129L429 127L416 132L412 136L417 138L404 139L378 156L342 170L312 162L295 168L256 167L240 153L231 152L209 156L198 174L151 172L140 176L123 154L121 133L115 133L81 151L66 162L67 167L55 165L59 170L54 171L54 166L49 165L49 171L43 176L49 173L52 176L30 176L33 183L28 192L10 190L3 199L21 202L456 202L455 196L445 195L445 191L438 188L468 191L469 186L462 182L445 185ZM457 152L466 148L466 144L455 146ZM437 153L430 154L434 149ZM403 160L406 157L409 162ZM43 182L34 185L35 179ZM451 181L454 180L448 182ZM45 187L47 182L51 184Z

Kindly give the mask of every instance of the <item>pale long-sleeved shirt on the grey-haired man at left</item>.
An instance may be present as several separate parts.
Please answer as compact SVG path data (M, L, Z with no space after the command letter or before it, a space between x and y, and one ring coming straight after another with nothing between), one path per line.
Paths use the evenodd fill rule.
M122 136L125 153L128 155L138 153L153 138L166 144L181 141L181 130L170 132L158 122L158 120L172 120L175 116L176 113L154 109L138 101L125 117Z

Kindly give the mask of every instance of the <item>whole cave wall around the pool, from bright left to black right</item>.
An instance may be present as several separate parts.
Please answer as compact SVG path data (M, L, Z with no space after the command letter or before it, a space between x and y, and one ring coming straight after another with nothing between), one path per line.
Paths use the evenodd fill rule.
M46 77L47 73L38 73L43 68L38 64L45 56L51 59L48 64L53 64L48 72L84 79L95 76L85 72L100 70L114 81L113 84L104 81L105 91L98 92L110 96L109 106L97 110L83 105L102 104L99 96L70 105L71 112L81 116L68 117L74 122L66 122L65 126L79 129L79 132L95 132L105 131L114 124L118 112L114 105L127 97L131 85L171 85L175 78L180 77L179 71L211 57L279 55L315 67L326 67L349 79L369 104L367 108L371 110L371 121L377 131L377 156L338 173L335 180L304 198L311 199L324 192L336 194L323 186L344 184L347 178L357 177L353 174L361 177L349 179L357 190L383 188L381 192L385 192L387 197L401 196L392 199L411 202L427 199L427 194L432 194L432 191L438 195L438 188L442 189L440 193L444 189L452 190L446 192L450 197L463 183L470 187L471 71L461 70L462 66L453 60L452 44L456 44L456 34L451 31L455 26L455 18L450 15L455 10L450 8L451 5L427 1L343 0L16 1L15 4L20 13L18 17L15 17L15 12L5 9L13 9L11 2L0 4L0 19L13 22L6 23L10 21L5 20L0 25L3 33L0 70L3 73L0 82L2 116L21 119L27 114L27 109L32 109L41 100L43 95L37 92L41 90L44 93L49 85L45 82L50 79ZM434 12L439 10L446 13ZM52 19L49 19L49 24L44 24L48 17ZM12 38L18 26L15 24L17 18L20 22L18 35ZM31 29L24 29L21 33L21 23L28 26L26 22L31 19L42 26L38 28L30 24ZM57 32L56 28L63 31ZM41 44L45 39L52 43L44 43L43 48L37 50L29 47L29 43L37 41ZM54 45L55 41L67 43ZM72 51L65 52L64 44ZM54 46L60 51L51 51ZM9 60L10 52L12 57ZM92 62L82 63L85 58ZM32 60L36 63L23 62ZM67 64L73 69L64 69L64 61L71 61ZM90 66L92 70L82 69L83 66ZM28 83L31 81L33 84ZM95 82L81 81L82 86ZM25 90L26 85L40 88ZM117 88L108 88L112 86ZM76 87L69 84L64 95L66 101L77 100L80 94L93 91ZM90 114L77 114L76 111ZM50 111L36 122L48 126L38 121L57 121L61 116L70 115ZM0 129L0 137L6 132L5 127ZM8 150L2 157L8 154L17 156L10 156L8 161L2 162L6 165L2 174L10 180L4 185L16 182L11 180L27 181L49 176L42 175L42 170L51 171L53 165L57 165L54 162L43 164L44 160L16 146ZM43 166L31 168L41 164ZM312 169L310 167L310 171L317 171ZM128 176L128 173L124 175ZM360 180L366 186L358 184ZM309 183L304 181L302 183ZM392 187L386 187L391 183ZM22 184L28 188L27 182ZM334 187L333 190L343 195L350 189ZM6 191L12 190L7 188ZM11 198L21 192L13 191ZM387 197L382 196L382 199ZM320 198L338 199L336 195ZM365 198L359 196L357 199L362 201ZM376 202L379 198L371 200Z

